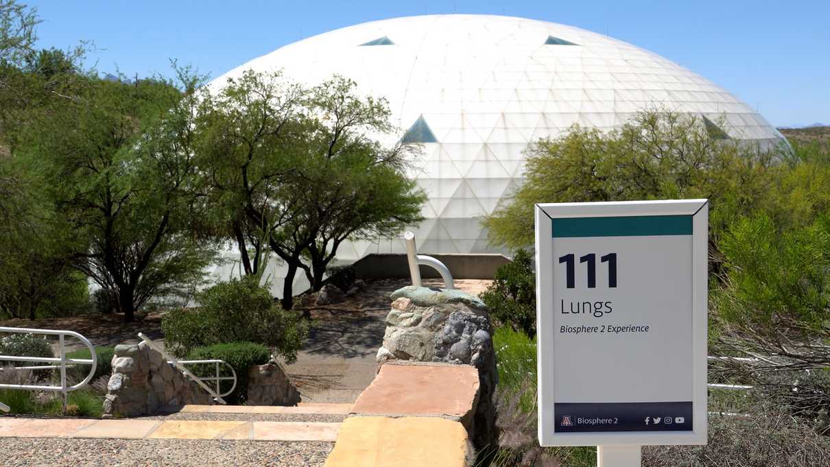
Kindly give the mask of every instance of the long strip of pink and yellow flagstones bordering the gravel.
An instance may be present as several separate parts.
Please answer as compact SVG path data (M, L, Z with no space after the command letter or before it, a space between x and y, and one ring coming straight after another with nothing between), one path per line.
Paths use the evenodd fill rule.
M0 437L334 441L339 422L155 421L0 417Z

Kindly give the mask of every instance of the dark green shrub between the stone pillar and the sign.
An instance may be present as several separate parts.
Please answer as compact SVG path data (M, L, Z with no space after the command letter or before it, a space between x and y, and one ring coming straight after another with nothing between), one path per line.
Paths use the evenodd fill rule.
M481 294L481 299L498 323L534 336L536 283L530 254L523 249L516 251L510 263L496 270L493 284Z

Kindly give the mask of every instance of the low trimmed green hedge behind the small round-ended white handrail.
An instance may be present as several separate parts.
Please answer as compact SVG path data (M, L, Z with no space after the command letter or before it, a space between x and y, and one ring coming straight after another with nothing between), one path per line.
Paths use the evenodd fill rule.
M271 352L264 345L250 342L217 343L208 347L194 348L188 353L188 360L224 360L233 371L237 372L237 387L226 397L228 404L239 405L246 401L248 393L248 372L253 365L263 365L271 359ZM227 367L221 365L221 376L231 376ZM193 373L199 377L216 375L216 366L213 363L193 365ZM205 382L214 387L213 382ZM231 381L220 383L220 393L227 391Z

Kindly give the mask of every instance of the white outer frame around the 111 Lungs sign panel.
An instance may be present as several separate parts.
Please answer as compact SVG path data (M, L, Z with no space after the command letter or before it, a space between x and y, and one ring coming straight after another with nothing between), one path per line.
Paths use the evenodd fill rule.
M554 431L554 258L552 220L573 217L692 216L692 431ZM539 440L543 446L705 445L707 436L708 200L568 202L535 206ZM598 401L600 402L600 401Z

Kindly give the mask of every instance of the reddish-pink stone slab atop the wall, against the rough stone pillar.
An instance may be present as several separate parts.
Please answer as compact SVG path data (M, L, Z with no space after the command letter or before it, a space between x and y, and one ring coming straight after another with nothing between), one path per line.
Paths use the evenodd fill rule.
M354 402L352 413L374 416L446 416L471 419L478 371L465 365L387 363Z

